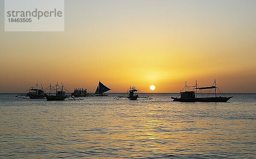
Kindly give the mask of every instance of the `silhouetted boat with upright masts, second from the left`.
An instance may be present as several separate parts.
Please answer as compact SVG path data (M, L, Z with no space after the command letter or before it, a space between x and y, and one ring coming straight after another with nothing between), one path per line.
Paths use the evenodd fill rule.
M49 86L49 95L44 94L46 96L47 101L63 101L67 98L67 95L65 95L66 92L63 91L64 85L61 84L61 87L58 86L58 82L56 84L56 88L52 89L52 86L50 84ZM51 90L55 90L55 95L51 94Z

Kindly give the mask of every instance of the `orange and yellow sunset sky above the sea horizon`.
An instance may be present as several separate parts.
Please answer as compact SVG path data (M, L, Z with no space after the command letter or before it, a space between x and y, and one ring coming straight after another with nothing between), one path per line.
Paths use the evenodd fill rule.
M56 81L94 92L175 93L216 79L222 92L256 93L255 0L65 0L64 32L4 32L0 92ZM151 91L150 85L156 89Z

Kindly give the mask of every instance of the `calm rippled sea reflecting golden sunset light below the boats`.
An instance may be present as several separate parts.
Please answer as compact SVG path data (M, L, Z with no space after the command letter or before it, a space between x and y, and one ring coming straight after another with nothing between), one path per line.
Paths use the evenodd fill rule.
M0 158L256 158L256 94L227 103L0 93Z

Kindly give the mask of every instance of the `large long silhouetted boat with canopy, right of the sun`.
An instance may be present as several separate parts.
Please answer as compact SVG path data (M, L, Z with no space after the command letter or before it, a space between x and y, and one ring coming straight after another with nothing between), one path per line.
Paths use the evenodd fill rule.
M193 90L195 91L187 91L187 87L194 87ZM184 88L183 88L184 89ZM197 97L198 95L198 90L206 90L206 89L215 89L215 97L204 97L204 95L202 94L203 97ZM216 80L214 79L214 83L212 86L210 87L198 87L197 85L197 81L195 80L195 86L187 86L186 82L185 82L185 92L180 91L180 98L175 98L175 97L171 97L173 99L173 101L183 101L183 102L227 102L230 98L232 98L233 96L230 97L222 97L219 96L217 97L216 94L216 89L218 89L218 87L216 87ZM210 92L209 91L209 92ZM221 93L221 91L220 91ZM209 94L209 93L208 93ZM222 94L222 93L221 93Z

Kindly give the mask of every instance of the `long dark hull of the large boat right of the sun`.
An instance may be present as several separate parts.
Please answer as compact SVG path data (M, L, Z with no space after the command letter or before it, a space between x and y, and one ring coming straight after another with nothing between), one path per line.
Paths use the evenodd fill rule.
M175 98L171 97L173 101L182 102L227 102L231 97L207 97L207 98Z

